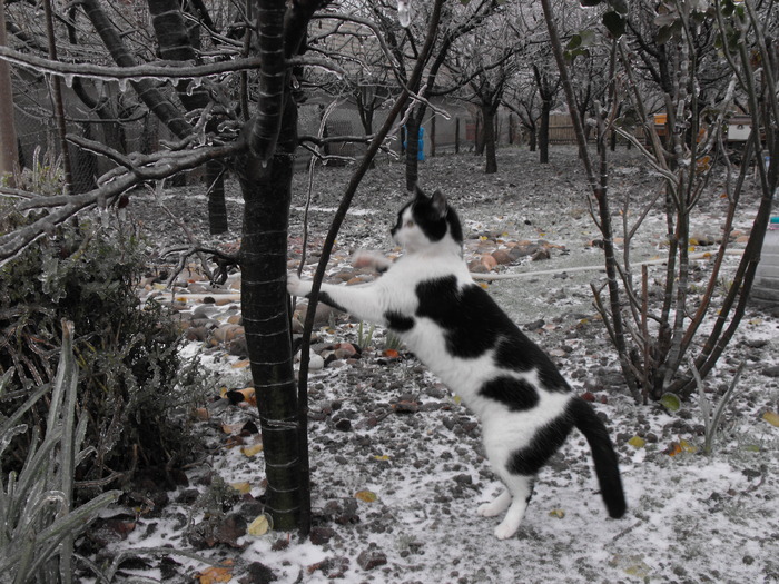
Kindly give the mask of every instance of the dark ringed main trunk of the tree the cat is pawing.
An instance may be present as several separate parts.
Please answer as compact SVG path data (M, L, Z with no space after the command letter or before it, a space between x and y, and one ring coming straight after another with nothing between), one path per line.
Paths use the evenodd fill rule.
M287 281L287 228L297 146L297 107L287 96L275 154L264 165L247 154L236 165L244 196L241 313L259 409L274 528L300 514L297 388L293 373Z

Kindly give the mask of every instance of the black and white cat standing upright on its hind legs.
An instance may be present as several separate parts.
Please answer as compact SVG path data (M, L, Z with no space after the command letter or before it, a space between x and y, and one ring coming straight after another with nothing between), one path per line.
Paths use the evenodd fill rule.
M592 449L609 515L625 511L617 455L594 410L575 396L551 359L530 340L490 295L473 281L463 260L456 212L436 191L417 189L392 228L405 254L369 284L323 284L322 301L398 335L448 388L479 416L484 449L506 489L479 514L507 509L495 528L500 540L520 526L533 479L579 428ZM363 258L364 259L364 258ZM381 261L377 261L381 264ZM287 280L290 295L310 293L310 281Z

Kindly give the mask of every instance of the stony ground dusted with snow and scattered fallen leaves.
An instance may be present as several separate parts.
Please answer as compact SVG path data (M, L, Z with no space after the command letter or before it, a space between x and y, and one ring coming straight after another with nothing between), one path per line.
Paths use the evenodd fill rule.
M738 364L746 360L714 453L706 456L697 402L671 414L659 405L635 405L620 384L613 352L592 308L590 281L602 276L596 269L571 269L598 266L602 258L602 251L590 245L598 232L586 212L574 150L553 149L546 167L535 164L533 154L502 150L500 171L493 176L484 176L481 165L470 155L428 160L421 169L422 185L448 195L476 236L491 239L497 234L493 248L500 245L497 239L561 246L552 247L551 259L503 269L543 274L500 280L490 285L490 291L554 356L576 390L594 394L619 452L629 504L625 517L608 518L589 449L574 434L539 476L517 535L496 540L492 532L500 519L475 514L479 504L500 489L482 455L475 418L413 357L383 357L385 338L376 330L362 358L337 360L312 375L313 541L302 543L295 534L278 532L243 535L239 526L208 547L191 535L193 525L209 521L205 498L215 491L215 477L248 491L229 505L223 502L228 516L252 523L262 513L262 453L246 454L258 438L250 432L240 437L236 429L247 422L258 425L256 409L213 407L210 419L198 423L210 448L203 464L188 471L188 485L169 493L162 508L137 516L132 528L105 552L200 547L198 554L221 562L224 570L204 572L206 564L172 554L171 560L147 557L128 564L122 574L164 582L199 577L201 583L779 581L779 428L763 418L767 412L779 412L777 313L749 308L730 349L707 380L707 395L717 403ZM310 251L316 251L348 171L317 170ZM300 236L305 204L305 177L297 180L293 241ZM400 166L379 166L368 175L344 226L335 261L346 265L358 247L392 249L385 234L404 200L400 185ZM615 192L631 195L631 209L660 188L658 179L624 152L612 168L612 185ZM723 209L717 188L696 225L701 234L714 237ZM172 192L171 198L180 209L180 194ZM755 201L753 195L748 199ZM201 209L188 208L186 217L196 231L205 216L205 205L198 205ZM614 219L621 220L619 209L614 211ZM737 218L739 229L748 229L753 211L755 204L748 204ZM237 229L237 192L230 196L230 212ZM151 224L150 216L140 218ZM160 247L178 237L169 228L155 230L169 238ZM661 255L663 234L661 216L652 214L631 247L634 260ZM479 257L484 250L480 246L489 245L471 239L469 257ZM737 261L738 257L729 258L729 269ZM707 265L700 263L701 278ZM531 323L532 327L524 326ZM356 343L358 330L354 323L339 319L319 335L321 342ZM187 350L196 349L203 350L200 344ZM219 372L218 385L248 385L240 357L218 347L204 355L204 363ZM676 451L681 452L672 456ZM112 513L120 512L134 515L132 509ZM219 528L230 531L224 522Z

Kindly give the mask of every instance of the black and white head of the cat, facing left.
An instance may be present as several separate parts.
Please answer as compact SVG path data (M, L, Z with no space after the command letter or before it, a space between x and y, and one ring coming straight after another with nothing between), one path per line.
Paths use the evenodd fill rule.
M436 190L432 197L416 188L414 200L397 214L397 222L391 229L392 237L408 251L417 251L435 244L463 245L460 218L446 198Z

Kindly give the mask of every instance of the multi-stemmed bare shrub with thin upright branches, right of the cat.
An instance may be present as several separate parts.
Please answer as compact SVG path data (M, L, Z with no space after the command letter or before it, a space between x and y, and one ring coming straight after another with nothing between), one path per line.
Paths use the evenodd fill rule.
M607 11L603 22L613 38L622 37L630 18L627 6L617 1L610 1L609 4L611 9ZM777 187L775 157L778 145L772 131L766 132L765 141L760 131L751 132L740 169L737 169L728 157L723 138L724 120L732 111L737 95L740 95L748 107L752 128L773 128L779 119L776 86L779 61L776 48L767 42L763 32L771 30L771 13L767 13L767 21L762 22L751 1L738 7L726 2L712 11L700 11L697 6L686 2L662 4L663 18L654 21L657 30L652 38L660 39L658 44L662 44L661 49L655 48L655 52L669 57L662 61L663 66L658 71L676 71L671 79L667 79L670 85L661 91L670 130L665 143L660 140L653 119L645 108L644 93L637 80L637 70L640 69L637 67L637 55L630 50L628 39L609 39L608 42L613 48L609 70L615 71L615 60L619 56L627 93L632 108L638 112L637 118L643 132L649 137L650 146L644 148L633 133L614 123L614 78L609 101L598 107L599 168L595 169L586 148L571 77L549 0L544 0L543 7L569 109L574 120L582 162L592 186L593 207L598 211L596 221L603 234L608 301L601 297L603 288L593 287L596 306L604 317L607 329L620 357L622 372L637 399L659 398L665 392L688 396L696 387L696 375L700 374L703 377L711 370L743 316ZM710 34L711 30L717 31L717 42L726 55L731 80L723 92L709 91L704 95L699 91L700 77L708 75L701 69L701 47L714 39ZM757 61L756 56L759 57ZM645 59L640 62L645 62ZM760 63L757 68L756 62ZM659 79L663 78L664 75L660 75ZM762 103L760 100L763 100ZM710 112L706 127L701 123L706 119L703 110ZM630 199L625 197L622 208L625 244L621 261L613 246L614 228L611 224L610 197L607 190L605 136L610 128L614 128L644 154L648 164L662 177L664 186L635 215L631 214ZM704 318L712 318L711 314L717 304L717 283L729 244L728 235L740 204L751 157L757 155L758 160L761 160L765 152L770 152L771 166L766 169L763 165L757 165L761 199L749 244L736 270L733 284L719 299L713 329L706 335L702 348L694 358L694 370L684 372L687 355L697 350L693 339L700 333ZM728 210L722 226L724 235L717 254L713 255L714 260L704 293L698 295L693 294L689 286L692 266L690 217L707 197L718 197L721 192L709 186L718 162L724 168L720 179L724 184L728 198ZM649 301L649 268L642 265L641 277L634 275L630 258L630 239L658 204L665 212L669 245L662 295L659 307L654 308Z

